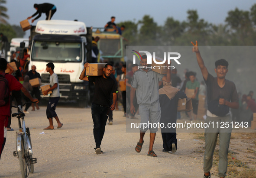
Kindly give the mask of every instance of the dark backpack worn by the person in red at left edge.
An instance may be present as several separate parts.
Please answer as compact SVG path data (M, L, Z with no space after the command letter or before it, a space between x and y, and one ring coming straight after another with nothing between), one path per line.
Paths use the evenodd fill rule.
M6 73L4 75L0 74L0 107L6 105L9 101L9 87L5 75Z

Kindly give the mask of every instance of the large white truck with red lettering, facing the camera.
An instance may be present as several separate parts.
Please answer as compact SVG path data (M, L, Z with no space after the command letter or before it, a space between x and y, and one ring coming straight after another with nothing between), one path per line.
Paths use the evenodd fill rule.
M85 107L88 100L88 82L81 81L79 76L84 63L91 61L91 34L91 28L83 22L68 20L40 20L30 31L29 70L35 65L42 84L49 84L50 74L45 68L47 63L53 62L60 99L76 100L80 107Z

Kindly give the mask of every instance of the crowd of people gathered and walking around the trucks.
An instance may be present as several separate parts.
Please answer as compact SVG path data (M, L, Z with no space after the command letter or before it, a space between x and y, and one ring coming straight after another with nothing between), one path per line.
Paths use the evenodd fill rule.
M49 13L46 13L47 18L51 19L56 7L49 4L38 5L34 7L38 10L34 15L44 13L44 7L49 7ZM29 18L32 18L29 17ZM29 19L28 18L28 19ZM37 17L39 18L39 17ZM33 19L35 20L35 19ZM111 21L105 26L108 29L114 29L115 32L122 34L124 26L120 28L114 23L115 17L111 17ZM92 63L97 63L97 42L100 38L93 39L93 60ZM237 93L235 84L227 80L226 74L228 72L228 62L225 59L219 59L215 62L214 71L217 77L214 77L204 65L203 58L199 52L198 43L193 44L192 52L196 54L198 66L204 81L199 82L196 78L196 72L185 71L185 76L181 78L177 75L177 69L167 70L167 74L159 74L152 71L147 64L146 55L141 56L140 66L145 68L139 69L139 65L133 64L131 61L117 62L108 61L103 68L103 74L100 76L87 76L86 68L90 63L84 64L84 69L80 74L79 79L89 81L89 87L94 93L91 100L91 115L94 123L93 135L95 141L95 153L104 153L101 150L101 142L104 137L105 126L107 120L108 124L113 125L114 115L113 110L121 110L120 104L123 109L123 117L129 119L137 119L136 113L140 116L140 123L176 123L180 119L180 113L177 113L178 99L191 97L193 110L187 112L190 120L197 120L198 114L198 96L204 95L207 98L207 112L205 121L216 124L217 121L232 122L239 121L245 122L253 120L253 113L256 113L256 103L253 99L253 91L248 95ZM36 72L36 66L33 65L31 70L28 70L29 52L24 49L22 55L13 55L12 61L16 62L18 70L14 70L7 64L4 58L0 58L0 75L8 82L8 88L12 93L10 100L5 105L0 106L0 151L6 142L5 131L13 129L11 124L11 109L12 100L15 99L17 104L21 104L22 100L35 101L36 109L39 110L38 102L40 100L39 86L32 87L29 80L33 78L41 78L40 74ZM167 62L165 65L169 66ZM6 68L10 68L9 74L5 74ZM57 128L61 128L63 123L58 119L55 108L60 98L58 76L54 73L54 64L52 62L46 65L46 71L50 74L50 88L43 91L42 94L46 95L52 91L49 97L49 103L46 109L46 117L49 120L49 126L45 129L54 129L53 118L58 123ZM23 84L21 84L23 83ZM205 86L206 85L206 86ZM23 94L22 94L23 93ZM91 93L91 92L90 92ZM35 96L35 98L33 98ZM26 105L24 113L29 113L28 109L30 104ZM32 111L35 111L35 106L32 105ZM247 120L246 120L247 118ZM143 125L144 126L144 125ZM153 151L153 145L156 138L157 127L148 126L146 128L139 127L139 142L136 143L135 151L141 152L144 136L149 129L149 150L147 155L157 157ZM219 176L224 178L227 172L227 154L230 143L230 136L232 127L218 128L210 127L205 129L205 152L204 152L204 178L211 177L211 167L213 152L216 146L217 137L220 139L219 144ZM163 149L162 152L168 153L176 152L178 149L176 129L161 128Z

